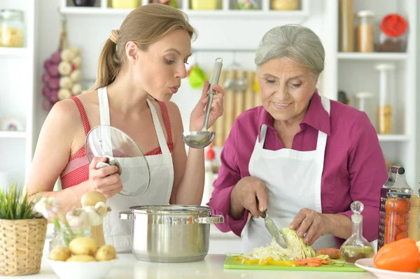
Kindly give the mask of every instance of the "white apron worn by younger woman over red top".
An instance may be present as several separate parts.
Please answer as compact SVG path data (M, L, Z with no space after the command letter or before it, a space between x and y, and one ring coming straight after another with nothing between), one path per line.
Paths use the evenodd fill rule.
M109 103L106 87L99 88L98 96L101 124L109 125ZM165 134L162 131L155 107L151 101L147 100L147 103L151 109L153 124L155 124L155 131L158 135L162 154L146 156L151 172L151 183L144 194L135 197L116 194L106 201L106 205L110 206L112 211L104 218L105 242L106 244L113 245L119 253L132 252L132 222L129 220L120 220L119 212L130 210L130 206L169 204L172 185L174 183L172 155L169 152ZM111 137L109 138L109 142L111 142ZM112 155L111 148L108 149ZM127 189L129 192L134 192L134 190L130 191L130 189L139 187L139 179L147 175L147 166L144 163L144 159L139 159L138 157L117 157L117 160L123 169L121 181L123 182L124 189Z

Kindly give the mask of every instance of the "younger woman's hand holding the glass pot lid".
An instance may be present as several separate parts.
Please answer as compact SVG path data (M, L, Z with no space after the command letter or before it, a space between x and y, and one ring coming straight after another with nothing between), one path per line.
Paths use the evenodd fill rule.
M89 165L89 180L93 190L104 194L106 199L117 194L123 189L120 175L117 173L117 166L105 166L97 169L99 162L106 162L104 157L94 157Z

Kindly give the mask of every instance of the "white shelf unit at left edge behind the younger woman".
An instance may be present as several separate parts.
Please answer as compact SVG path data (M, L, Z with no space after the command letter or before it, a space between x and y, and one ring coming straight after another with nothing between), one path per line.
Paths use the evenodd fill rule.
M0 184L23 185L34 145L36 4L35 0L1 1L0 9L24 12L23 47L0 47L0 122L21 126L17 131L0 127Z

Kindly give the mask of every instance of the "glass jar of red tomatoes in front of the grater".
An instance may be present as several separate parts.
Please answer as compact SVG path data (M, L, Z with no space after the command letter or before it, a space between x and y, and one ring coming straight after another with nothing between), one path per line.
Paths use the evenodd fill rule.
M411 194L388 192L385 203L384 243L408 237L408 217Z

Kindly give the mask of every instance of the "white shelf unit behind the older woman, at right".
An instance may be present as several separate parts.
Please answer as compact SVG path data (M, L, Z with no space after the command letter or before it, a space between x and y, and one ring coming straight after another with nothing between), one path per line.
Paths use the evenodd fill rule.
M377 64L395 66L392 95L392 134L379 134L379 142L385 158L393 164L404 166L407 183L416 192L418 189L418 166L416 159L416 59L417 59L417 6L416 0L353 0L353 38L356 41L356 14L360 10L374 13L374 52L339 52L339 2L325 1L324 31L330 36L324 38L325 71L321 76L321 92L330 99L338 99L340 90L346 92L351 106L358 106L356 94L370 92L373 95L371 122L378 131L377 106L379 104L379 71ZM342 1L342 3L347 0ZM351 2L351 1L350 1ZM377 52L382 18L388 13L399 13L407 20L407 50L405 52ZM369 166L367 166L369 167Z

